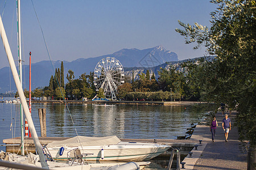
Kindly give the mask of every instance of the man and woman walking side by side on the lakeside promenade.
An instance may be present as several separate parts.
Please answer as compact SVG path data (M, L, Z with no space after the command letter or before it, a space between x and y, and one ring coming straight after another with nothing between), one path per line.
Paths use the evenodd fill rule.
M216 117L213 117L212 123L210 124L210 132L212 133L212 142L214 142L214 136L216 133L216 128L218 126L218 122ZM231 121L228 118L228 114L225 114L225 118L222 120L222 129L224 129L225 133L225 142L228 142L229 131L231 130Z

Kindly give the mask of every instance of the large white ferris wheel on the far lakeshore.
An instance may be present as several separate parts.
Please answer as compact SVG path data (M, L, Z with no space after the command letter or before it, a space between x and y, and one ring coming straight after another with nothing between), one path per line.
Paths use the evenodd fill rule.
M125 83L125 71L121 62L114 57L101 59L94 69L93 77L96 91L101 88L106 98L117 99L117 87Z

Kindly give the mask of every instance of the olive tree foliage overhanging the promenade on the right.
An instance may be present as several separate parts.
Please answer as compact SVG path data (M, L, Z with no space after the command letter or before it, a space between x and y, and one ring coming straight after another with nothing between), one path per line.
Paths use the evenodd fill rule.
M256 2L255 0L212 0L218 7L211 12L210 28L195 23L176 29L185 43L195 49L207 47L213 61L188 62L188 71L197 70L190 83L198 84L201 97L237 107L237 126L241 139L256 146Z

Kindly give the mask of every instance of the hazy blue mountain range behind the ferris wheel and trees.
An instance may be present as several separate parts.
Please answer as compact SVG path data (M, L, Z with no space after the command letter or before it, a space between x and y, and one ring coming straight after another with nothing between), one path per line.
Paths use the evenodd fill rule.
M108 54L93 58L79 58L74 61L63 61L64 76L67 75L68 70L75 73L75 79L79 78L82 73L89 74L94 71L97 63L106 57L114 57L118 59L126 71L129 70L145 69L148 67L156 67L166 62L177 62L177 54L166 50L163 46L155 46L148 49L121 49L113 54ZM40 61L31 64L31 88L34 90L36 87L48 86L51 75L55 74L55 68L60 68L61 61ZM17 68L18 69L18 68ZM154 71L155 72L155 71ZM0 69L0 92L13 91L16 92L13 76L10 76L10 68L3 67ZM23 88L28 89L29 66L23 65ZM25 79L25 81L24 81ZM11 82L11 83L10 83ZM11 85L10 85L11 84Z

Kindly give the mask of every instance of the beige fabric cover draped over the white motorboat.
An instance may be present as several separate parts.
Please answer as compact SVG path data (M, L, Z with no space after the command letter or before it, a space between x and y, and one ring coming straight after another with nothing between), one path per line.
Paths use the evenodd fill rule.
M104 145L116 145L121 142L117 136L109 137L83 137L76 136L73 138L65 139L63 141L54 141L48 143L47 147L79 147L79 146L104 146Z

